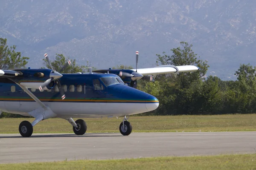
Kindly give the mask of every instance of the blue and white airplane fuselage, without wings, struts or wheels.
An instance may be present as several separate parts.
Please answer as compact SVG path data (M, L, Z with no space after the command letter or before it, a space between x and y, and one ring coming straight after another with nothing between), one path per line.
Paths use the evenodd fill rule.
M57 85L52 84L42 92L29 88L32 94L57 114L56 117L132 115L153 111L159 105L154 96L124 85L122 80L113 74L62 75L59 80L66 95L64 100L61 99ZM116 80L121 81L111 82ZM44 78L28 78L18 83L23 83L24 86L38 86L44 81ZM28 113L40 105L15 82L0 78L0 110L29 116Z

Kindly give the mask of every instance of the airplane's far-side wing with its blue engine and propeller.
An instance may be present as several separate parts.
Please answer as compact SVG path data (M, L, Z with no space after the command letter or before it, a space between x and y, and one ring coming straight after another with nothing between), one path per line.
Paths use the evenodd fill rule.
M95 70L93 73L111 73L118 75L123 82L132 88L137 88L137 80L145 79L149 82L154 82L154 78L157 74L178 74L183 72L197 71L199 68L195 65L160 65L154 68L139 68L137 69L139 59L139 51L136 51L136 69L102 69Z

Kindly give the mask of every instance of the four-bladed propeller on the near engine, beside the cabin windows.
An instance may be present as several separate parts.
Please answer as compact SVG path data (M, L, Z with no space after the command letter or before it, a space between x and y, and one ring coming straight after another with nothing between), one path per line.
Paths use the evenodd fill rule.
M60 73L58 73L57 71L53 70L47 53L44 54L44 57L47 59L47 62L49 64L50 68L52 69L52 72L49 75L51 78L47 79L42 85L40 85L39 90L43 91L43 88L45 88L52 81L54 81L56 83L56 85L58 86L58 89L59 89L60 94L61 94L61 99L63 100L63 99L65 99L66 96L64 94L63 88L61 87L61 82L59 81L59 79L62 77L62 75ZM70 64L71 64L71 62L68 59L67 63L61 68L60 72L63 71L65 68L67 68L67 66L70 65Z

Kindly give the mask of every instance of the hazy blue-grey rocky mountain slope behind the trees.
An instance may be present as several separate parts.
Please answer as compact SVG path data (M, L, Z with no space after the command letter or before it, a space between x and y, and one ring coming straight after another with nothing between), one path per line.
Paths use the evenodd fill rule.
M45 52L85 65L152 67L180 41L208 60L207 75L236 79L240 63L256 65L253 0L1 0L0 37L41 67Z

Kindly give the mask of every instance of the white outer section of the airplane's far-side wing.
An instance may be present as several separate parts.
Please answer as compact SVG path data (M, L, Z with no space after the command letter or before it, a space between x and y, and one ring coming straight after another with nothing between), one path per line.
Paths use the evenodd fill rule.
M136 69L132 69L136 71ZM174 65L160 65L154 68L139 68L137 72L142 75L149 75L149 74L167 74L167 73L182 73L182 72L192 72L199 70L198 67L194 65L181 65L181 66L174 66Z

